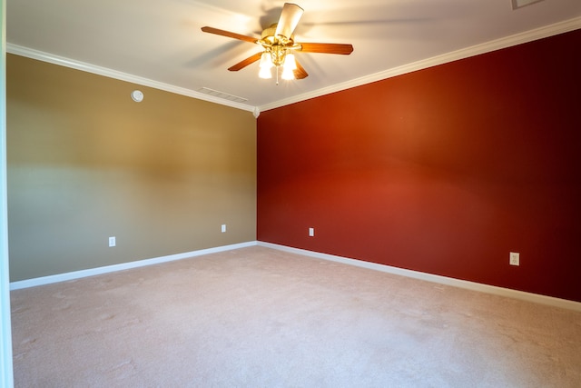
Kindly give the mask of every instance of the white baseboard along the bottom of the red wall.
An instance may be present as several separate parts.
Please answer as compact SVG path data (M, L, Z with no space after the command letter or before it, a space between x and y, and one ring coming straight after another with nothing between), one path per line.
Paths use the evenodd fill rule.
M432 283L446 284L454 287L465 288L468 290L479 291L481 293L492 293L509 298L519 299L527 302L548 304L554 307L565 308L581 312L581 303L569 301L566 299L555 298L552 296L541 295L538 293L526 293L523 291L511 290L509 288L497 287L495 285L479 284L468 282L466 280L454 279L451 277L440 276L437 274L426 274L419 271L412 271L403 268L393 267L385 264L369 263L362 260L350 259L347 257L335 256L333 254L320 254L318 252L307 251L304 249L292 248L290 246L258 242L258 245L267 248L278 249L279 251L289 252L291 254L302 254L305 256L315 257L318 259L330 260L342 264L355 265L362 268L368 268L375 271L381 271L389 274L399 274L414 279L425 280Z

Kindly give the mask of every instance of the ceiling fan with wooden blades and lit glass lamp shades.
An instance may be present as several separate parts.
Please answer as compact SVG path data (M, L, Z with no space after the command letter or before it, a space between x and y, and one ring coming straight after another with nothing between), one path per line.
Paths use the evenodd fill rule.
M228 68L231 72L237 72L244 67L260 62L261 78L271 78L271 69L276 69L277 85L279 83L279 69L282 67L282 79L303 79L309 76L305 69L296 60L294 53L323 53L350 55L353 52L352 45L332 43L297 43L294 41L294 29L299 24L300 16L304 10L299 5L285 3L282 7L279 22L264 29L261 38L231 33L213 27L202 27L204 33L222 35L261 45L263 51L251 55L236 65Z

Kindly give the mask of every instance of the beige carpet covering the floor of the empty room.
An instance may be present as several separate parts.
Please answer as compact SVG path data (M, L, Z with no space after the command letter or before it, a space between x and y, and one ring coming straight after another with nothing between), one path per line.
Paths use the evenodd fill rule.
M16 387L581 386L581 313L260 246L11 296Z

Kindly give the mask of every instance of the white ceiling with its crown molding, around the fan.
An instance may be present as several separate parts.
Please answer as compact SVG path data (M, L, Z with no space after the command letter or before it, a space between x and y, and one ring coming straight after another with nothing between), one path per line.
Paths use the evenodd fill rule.
M299 53L309 73L281 82L258 64L226 69L258 45L202 33L201 27L260 36L278 21L274 0L7 0L7 51L200 95L202 87L270 109L427 65L581 28L581 0L297 0L295 41L348 43L351 55ZM578 47L576 48L579 49ZM210 100L212 101L212 98Z

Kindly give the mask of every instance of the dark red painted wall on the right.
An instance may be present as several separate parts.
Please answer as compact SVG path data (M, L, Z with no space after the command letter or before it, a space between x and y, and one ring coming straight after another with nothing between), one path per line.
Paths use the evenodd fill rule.
M262 113L259 241L581 302L579 47L576 30Z

